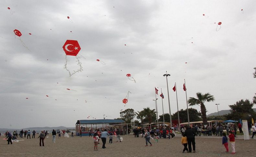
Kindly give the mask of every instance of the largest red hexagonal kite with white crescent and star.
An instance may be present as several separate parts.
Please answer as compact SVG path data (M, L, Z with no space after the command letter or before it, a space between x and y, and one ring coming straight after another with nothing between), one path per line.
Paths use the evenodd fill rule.
M65 51L66 55L70 56L76 56L81 50L77 40L67 40L62 48Z

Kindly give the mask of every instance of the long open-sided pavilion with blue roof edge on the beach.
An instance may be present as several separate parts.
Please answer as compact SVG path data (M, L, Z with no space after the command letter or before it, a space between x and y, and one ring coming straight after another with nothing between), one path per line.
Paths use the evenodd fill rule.
M76 122L76 136L79 135L81 130L82 136L89 136L89 131L91 130L92 135L97 129L107 129L108 131L115 131L110 127L114 124L125 123L122 119L93 119L93 120L77 120Z

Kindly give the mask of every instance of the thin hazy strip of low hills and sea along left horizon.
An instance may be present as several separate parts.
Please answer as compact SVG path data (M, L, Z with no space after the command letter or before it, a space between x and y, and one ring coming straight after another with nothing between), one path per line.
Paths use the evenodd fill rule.
M52 129L70 129L70 130L75 130L76 128L75 127L64 127L64 126L59 126L59 127L31 127L31 128L22 128L23 130L35 130L36 132L40 132L42 130L49 130L51 132ZM0 128L0 132L6 132L6 130L8 131L14 131L14 130L17 130L17 131L20 131L21 129L6 129L6 128Z

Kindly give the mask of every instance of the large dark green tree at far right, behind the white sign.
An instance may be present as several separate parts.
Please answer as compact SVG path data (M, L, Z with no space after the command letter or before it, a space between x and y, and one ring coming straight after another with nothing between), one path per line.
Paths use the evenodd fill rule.
M241 99L240 101L237 101L236 104L229 105L229 107L231 108L231 113L224 115L227 119L239 120L239 118L241 118L251 121L251 118L256 117L256 113L252 109L253 103L248 99L245 101Z

